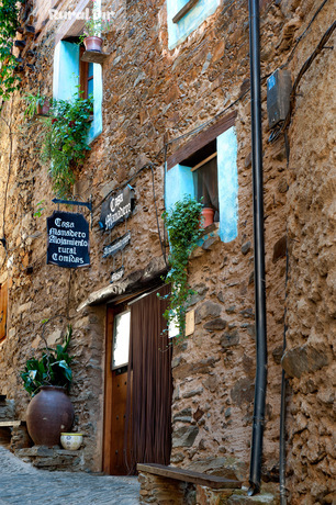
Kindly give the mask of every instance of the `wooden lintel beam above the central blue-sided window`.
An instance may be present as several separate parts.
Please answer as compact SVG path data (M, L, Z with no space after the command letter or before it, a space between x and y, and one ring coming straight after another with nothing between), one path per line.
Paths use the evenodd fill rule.
M219 120L214 125L210 126L204 132L201 132L194 138L189 141L182 147L180 147L173 155L169 156L167 159L167 169L175 167L176 165L183 161L197 150L206 146L210 142L214 141L219 135L226 132L231 126L234 126L237 113L231 112L221 120Z

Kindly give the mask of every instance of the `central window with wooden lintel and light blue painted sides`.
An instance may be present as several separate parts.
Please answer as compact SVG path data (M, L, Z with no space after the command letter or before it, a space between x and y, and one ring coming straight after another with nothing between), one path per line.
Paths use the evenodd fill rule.
M225 243L237 236L238 172L235 113L219 121L167 160L166 209L190 195L214 210Z

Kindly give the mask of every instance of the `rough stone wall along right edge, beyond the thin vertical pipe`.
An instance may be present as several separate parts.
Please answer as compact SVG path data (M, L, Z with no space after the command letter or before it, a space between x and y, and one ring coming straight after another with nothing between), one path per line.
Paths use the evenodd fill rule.
M300 68L332 23L309 34ZM335 34L326 43L335 47ZM298 90L289 162L287 345L290 503L334 503L335 483L335 50L324 49Z

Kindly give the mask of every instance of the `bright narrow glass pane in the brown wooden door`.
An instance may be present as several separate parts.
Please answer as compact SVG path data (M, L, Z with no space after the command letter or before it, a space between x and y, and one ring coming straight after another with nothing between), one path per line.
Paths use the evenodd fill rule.
M128 363L130 329L131 311L116 314L114 317L112 370Z

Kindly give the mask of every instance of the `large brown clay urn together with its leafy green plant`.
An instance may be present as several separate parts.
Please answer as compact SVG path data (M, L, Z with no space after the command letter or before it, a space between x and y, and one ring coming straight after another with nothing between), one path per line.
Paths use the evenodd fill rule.
M72 380L68 355L72 328L69 325L63 345L45 347L40 359L26 361L20 373L24 389L32 396L26 412L26 426L36 446L57 446L60 433L68 431L74 422L74 406L67 396Z

